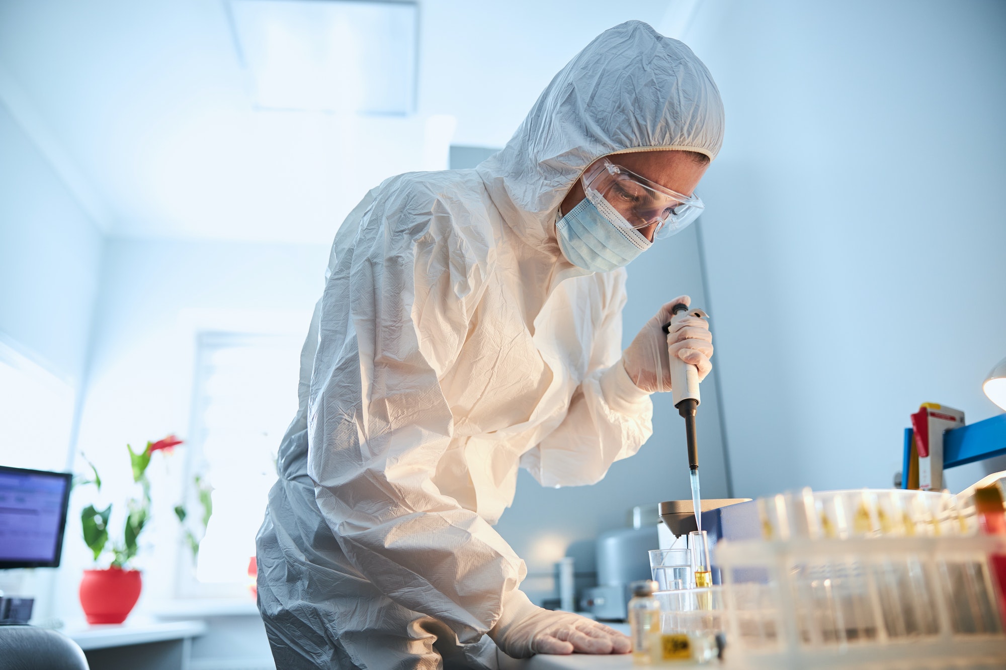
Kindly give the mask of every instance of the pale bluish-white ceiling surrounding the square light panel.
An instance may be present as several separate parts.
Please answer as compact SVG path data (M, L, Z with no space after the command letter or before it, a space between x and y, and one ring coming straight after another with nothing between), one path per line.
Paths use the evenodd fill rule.
M368 188L502 146L593 37L669 6L421 1L415 113L381 118L257 111L222 0L0 0L0 101L108 234L328 242Z

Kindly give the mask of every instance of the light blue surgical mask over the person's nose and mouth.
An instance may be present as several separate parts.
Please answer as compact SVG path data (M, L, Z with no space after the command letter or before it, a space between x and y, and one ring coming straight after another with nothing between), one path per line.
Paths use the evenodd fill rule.
M583 270L604 273L628 265L650 248L653 242L611 209L615 221L583 198L555 223L559 249L566 261Z

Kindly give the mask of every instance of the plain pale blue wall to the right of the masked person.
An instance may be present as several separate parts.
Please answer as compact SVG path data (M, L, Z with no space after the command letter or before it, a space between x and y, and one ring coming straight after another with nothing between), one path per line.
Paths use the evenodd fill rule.
M998 411L1003 35L991 1L700 5L684 39L726 108L700 192L735 494L890 486L919 402Z

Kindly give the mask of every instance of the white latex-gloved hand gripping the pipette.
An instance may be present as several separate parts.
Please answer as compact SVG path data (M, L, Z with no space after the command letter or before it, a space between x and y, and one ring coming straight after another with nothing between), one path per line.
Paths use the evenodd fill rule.
M671 390L670 356L677 356L698 368L699 381L709 374L712 363L712 335L704 319L691 317L671 326L664 334L664 324L671 321L671 308L678 303L691 304L691 298L680 296L660 308L646 322L629 348L622 353L622 364L637 386L653 393ZM658 375L657 370L662 374Z

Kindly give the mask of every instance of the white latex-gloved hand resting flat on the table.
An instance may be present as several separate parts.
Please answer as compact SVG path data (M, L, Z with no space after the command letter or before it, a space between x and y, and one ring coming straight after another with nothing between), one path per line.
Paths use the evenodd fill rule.
M503 614L489 637L505 654L628 654L629 638L604 624L571 612L552 612L534 605L520 591L503 601Z

